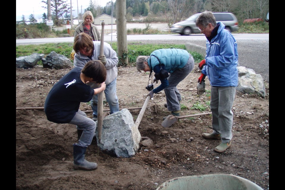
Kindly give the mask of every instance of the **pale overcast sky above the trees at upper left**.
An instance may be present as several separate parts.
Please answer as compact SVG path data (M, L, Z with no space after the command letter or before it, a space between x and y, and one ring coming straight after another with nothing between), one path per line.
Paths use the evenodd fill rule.
M92 0L94 1L94 0ZM112 0L95 0L97 4L100 4L102 7L105 7L106 3ZM77 16L77 0L72 0L72 9L73 16ZM89 5L90 0L78 0L78 12L84 13L84 9L86 9ZM115 2L115 0L113 0ZM70 0L67 0L67 3L70 4ZM35 18L39 20L42 18L42 14L45 12L47 14L47 9L42 8L45 6L45 3L42 3L42 0L16 0L16 21L22 20L22 15L25 15L25 19L29 20L29 16L31 14L35 15Z

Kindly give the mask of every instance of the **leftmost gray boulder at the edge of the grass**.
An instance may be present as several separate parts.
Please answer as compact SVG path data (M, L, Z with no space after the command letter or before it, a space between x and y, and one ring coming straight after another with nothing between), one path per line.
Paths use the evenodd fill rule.
M43 57L45 57L45 54L39 53L33 53L29 56L18 57L16 58L16 67L24 69L33 68Z

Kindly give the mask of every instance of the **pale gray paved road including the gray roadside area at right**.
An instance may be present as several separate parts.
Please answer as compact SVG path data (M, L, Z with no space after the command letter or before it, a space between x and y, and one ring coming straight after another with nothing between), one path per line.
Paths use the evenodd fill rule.
M253 69L263 79L269 82L269 34L233 34L238 42L238 54L240 66ZM44 39L16 39L17 45L73 42L73 37L44 38ZM105 35L106 42L117 42L115 33ZM203 34L181 36L177 34L165 35L128 35L128 42L140 42L145 44L185 44L193 43L206 47Z

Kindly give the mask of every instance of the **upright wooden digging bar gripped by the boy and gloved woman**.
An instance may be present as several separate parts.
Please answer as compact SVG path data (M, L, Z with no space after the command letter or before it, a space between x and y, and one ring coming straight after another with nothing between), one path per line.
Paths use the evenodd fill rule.
M101 23L102 25L102 30L101 30L101 43L100 43L100 54L99 56L101 57L104 55L104 26L105 22ZM98 125L98 137L99 137L99 142L101 140L101 134L102 134L102 125L103 125L103 92L100 92L98 94L98 109L97 109L97 125Z

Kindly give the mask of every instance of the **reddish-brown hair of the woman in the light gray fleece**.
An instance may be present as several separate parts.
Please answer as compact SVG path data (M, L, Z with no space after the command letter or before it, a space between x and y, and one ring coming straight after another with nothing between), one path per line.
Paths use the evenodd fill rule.
M93 49L93 40L92 37L85 33L78 34L74 39L73 49L76 53L86 47L86 52L89 52Z

